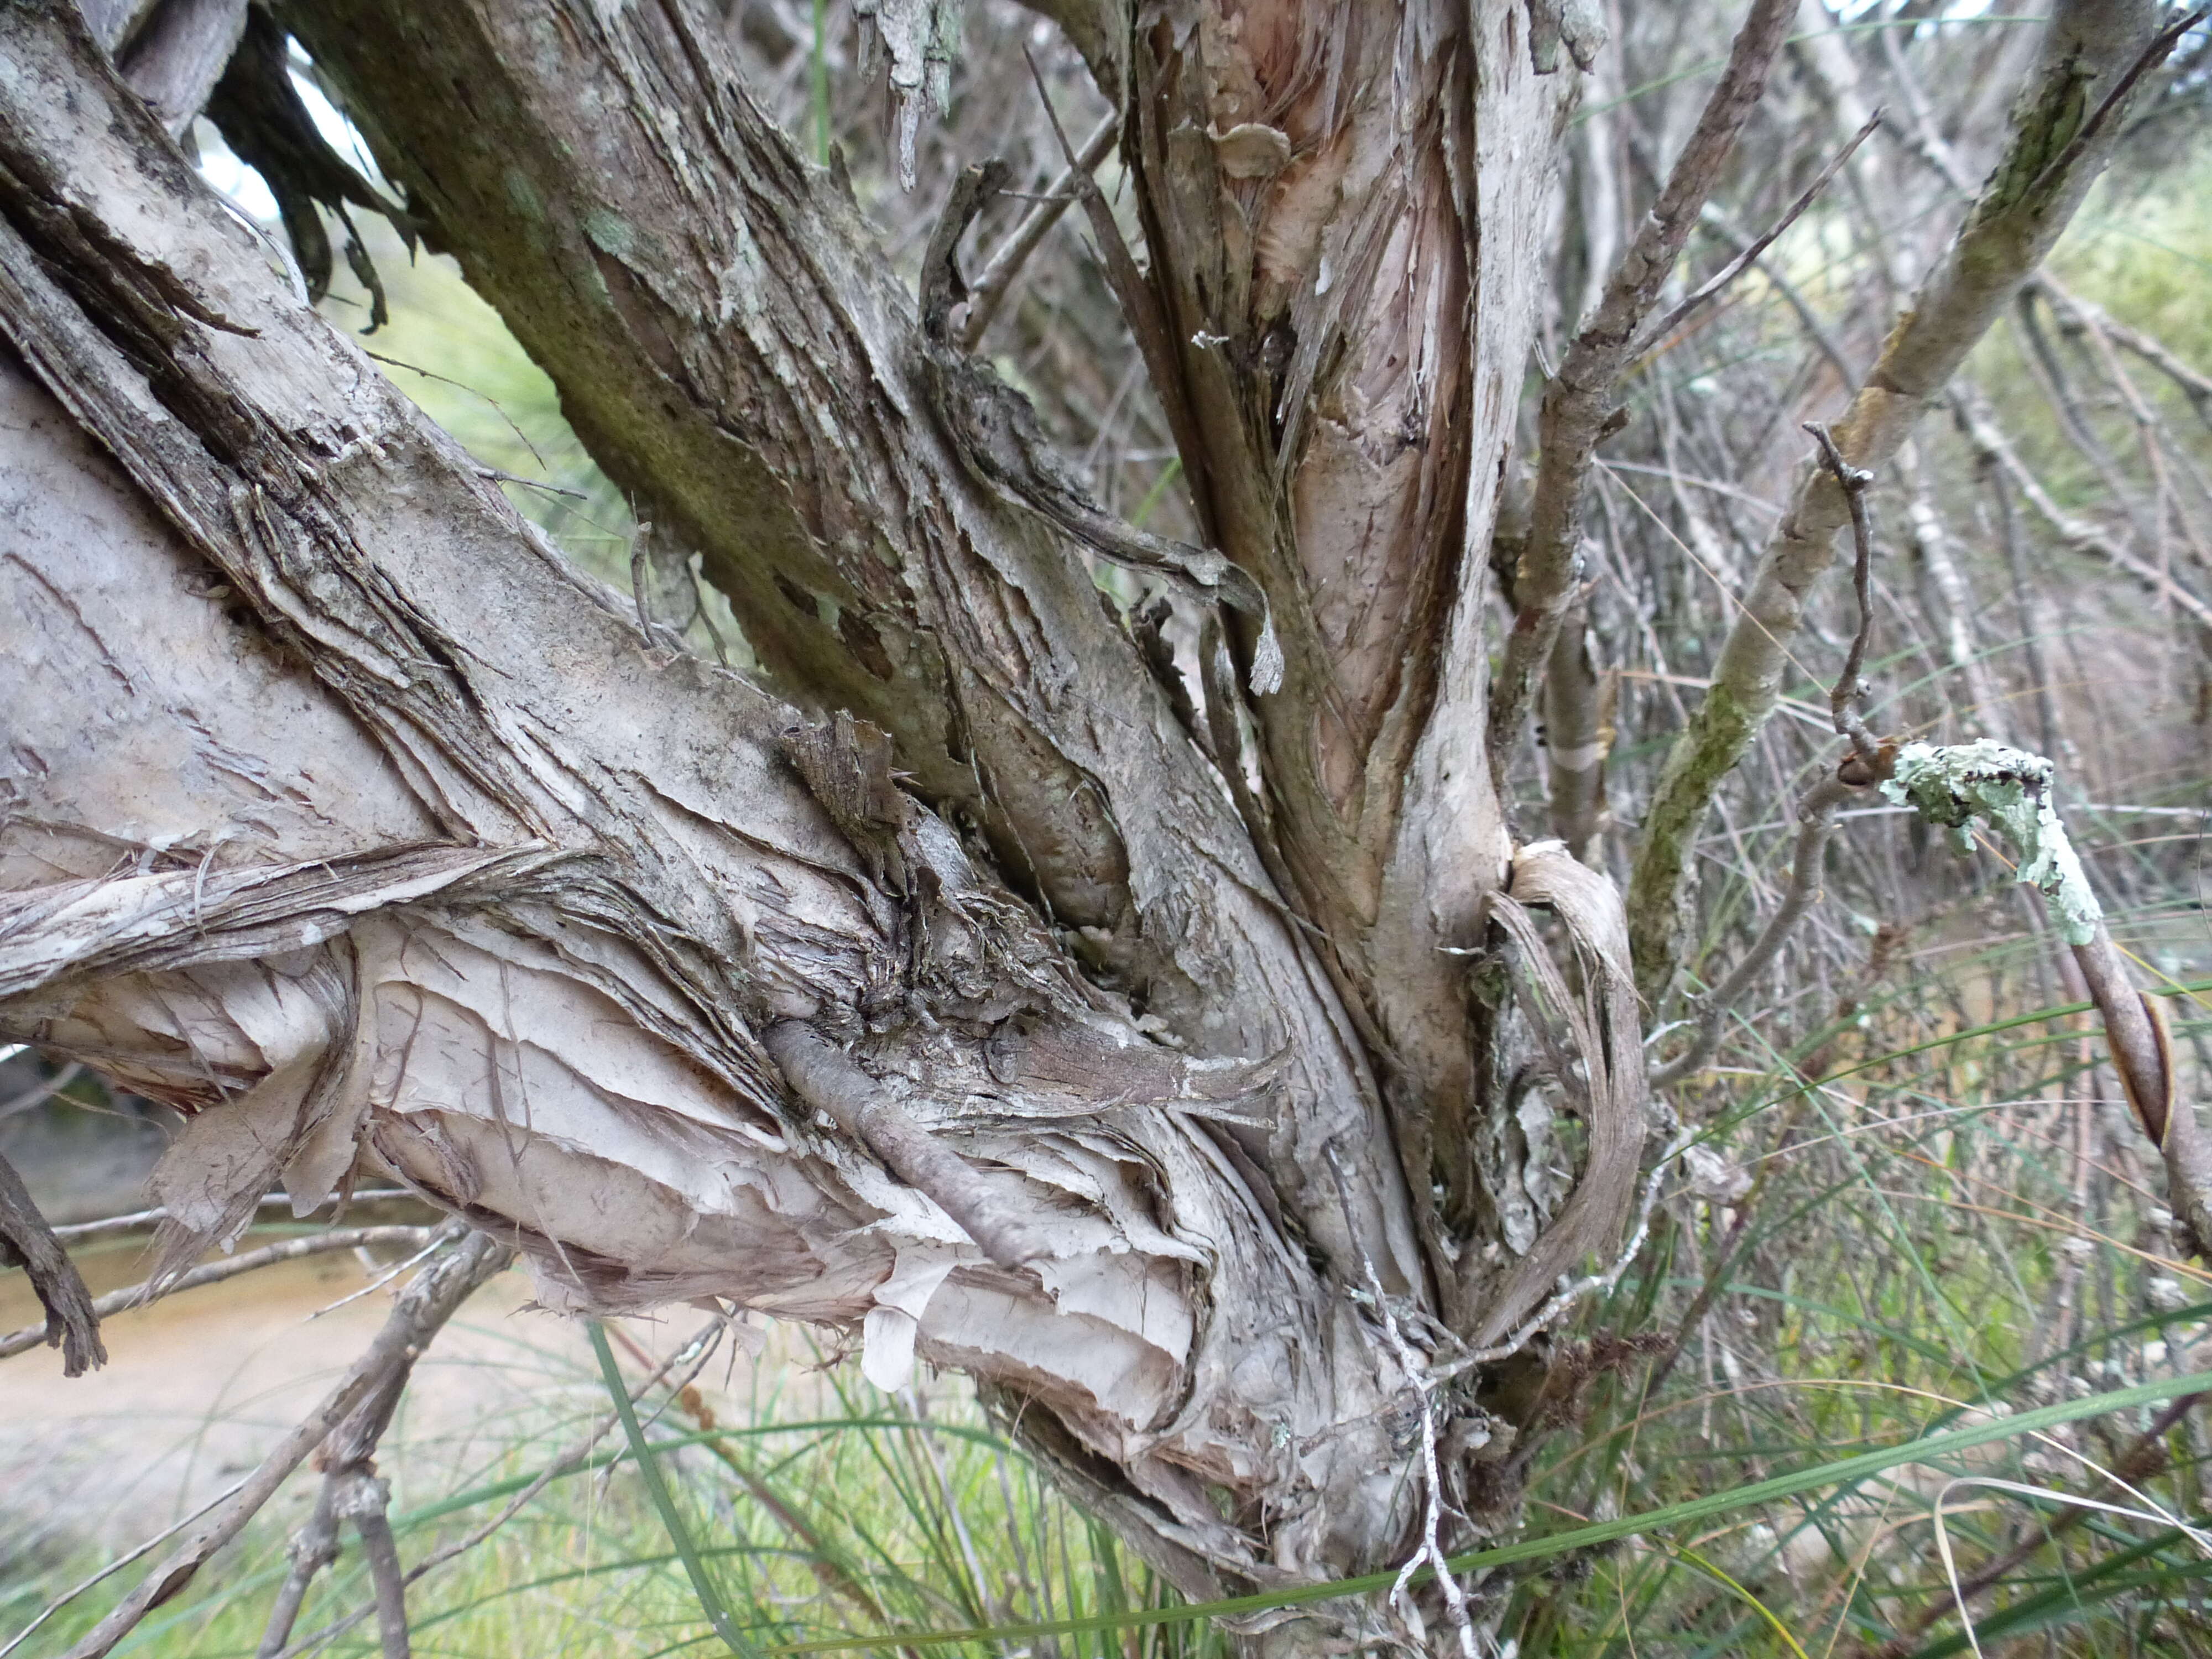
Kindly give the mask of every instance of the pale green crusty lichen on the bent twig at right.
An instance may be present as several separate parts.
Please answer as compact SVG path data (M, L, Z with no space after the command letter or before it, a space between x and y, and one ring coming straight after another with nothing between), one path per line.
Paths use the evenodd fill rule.
M2051 805L2051 781L2042 754L1984 737L1944 748L1907 743L1882 794L1949 830L1960 852L1973 847L1966 827L1975 818L2004 832L2020 849L2020 880L2044 896L2068 945L2088 945L2104 911Z

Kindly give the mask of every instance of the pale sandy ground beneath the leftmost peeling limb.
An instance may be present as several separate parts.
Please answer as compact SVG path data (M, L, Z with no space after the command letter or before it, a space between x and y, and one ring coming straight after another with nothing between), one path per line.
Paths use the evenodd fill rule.
M133 1283L142 1245L88 1252L80 1267L93 1294ZM117 1314L104 1325L108 1365L73 1380L55 1349L0 1360L0 1577L84 1544L137 1544L237 1482L383 1325L405 1281L343 1301L369 1279L367 1263L334 1252ZM447 1491L453 1471L482 1467L526 1425L604 1411L584 1327L529 1301L526 1274L500 1274L416 1367L380 1460L396 1506L409 1484L416 1498ZM24 1276L0 1274L0 1329L38 1318ZM677 1307L624 1329L659 1356L703 1323ZM761 1374L717 1360L701 1383L723 1416L745 1413ZM279 1509L310 1493L296 1475Z

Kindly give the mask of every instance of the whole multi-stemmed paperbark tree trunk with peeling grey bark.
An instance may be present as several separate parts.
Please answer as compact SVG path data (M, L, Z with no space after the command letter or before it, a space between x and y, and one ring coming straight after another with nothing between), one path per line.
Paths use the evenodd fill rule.
M1498 1513L1522 1425L1418 1374L1610 1256L1644 1146L1617 900L1482 752L1467 549L1573 82L1528 13L1071 24L1265 695L1250 593L1234 664L1148 670L1086 564L1137 544L940 327L956 243L918 307L679 0L288 24L763 672L566 566L73 9L0 7L0 1037L186 1113L173 1256L389 1170L551 1305L973 1374L1201 1597L1402 1559L1422 1418L1447 1542ZM1484 949L1579 1055L1571 1192Z

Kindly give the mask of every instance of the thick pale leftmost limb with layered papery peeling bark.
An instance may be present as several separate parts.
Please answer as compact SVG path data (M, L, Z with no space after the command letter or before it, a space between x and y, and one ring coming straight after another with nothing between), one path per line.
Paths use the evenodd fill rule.
M1387 1559L1405 1378L1239 1141L1298 1055L1161 1044L880 732L670 657L0 27L0 1035L188 1115L168 1259L385 1168L549 1305L975 1374L1186 1590Z

